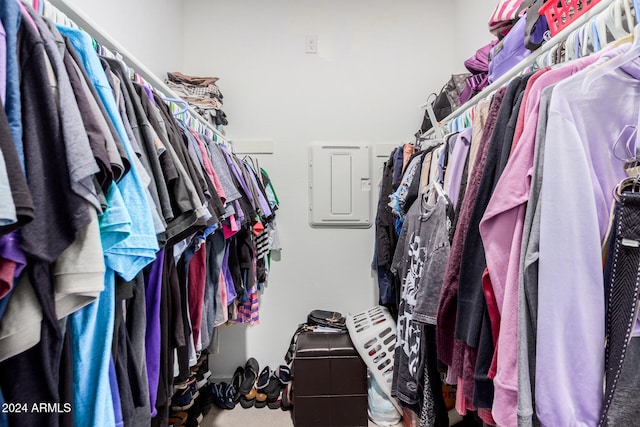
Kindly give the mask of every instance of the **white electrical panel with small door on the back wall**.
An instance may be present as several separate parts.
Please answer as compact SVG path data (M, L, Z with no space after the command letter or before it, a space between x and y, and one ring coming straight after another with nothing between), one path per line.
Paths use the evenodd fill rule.
M367 145L314 144L309 149L312 227L371 227L371 160Z

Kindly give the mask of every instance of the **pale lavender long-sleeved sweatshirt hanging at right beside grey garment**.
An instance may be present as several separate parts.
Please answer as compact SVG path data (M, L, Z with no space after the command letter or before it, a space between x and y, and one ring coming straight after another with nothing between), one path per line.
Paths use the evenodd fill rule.
M542 425L597 425L602 405L602 243L613 190L626 177L613 147L625 128L638 125L640 58L586 86L589 75L558 83L549 106L536 353Z

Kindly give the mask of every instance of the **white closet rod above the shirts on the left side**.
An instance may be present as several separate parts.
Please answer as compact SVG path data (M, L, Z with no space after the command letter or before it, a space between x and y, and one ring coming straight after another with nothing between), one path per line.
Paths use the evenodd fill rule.
M169 86L166 85L162 79L153 74L144 64L142 64L135 56L133 56L127 49L122 47L118 42L113 40L107 35L100 26L91 20L81 11L77 10L68 0L47 0L52 6L56 7L60 12L67 15L73 22L75 22L80 28L89 33L97 42L104 45L107 49L113 50L124 58L127 65L133 68L138 74L142 76L147 82L151 83L153 87L163 92L164 95L171 98L180 98ZM215 133L222 141L228 143L227 137L223 135L218 129L211 126L196 110L189 106L189 113L194 119L202 123L206 128Z

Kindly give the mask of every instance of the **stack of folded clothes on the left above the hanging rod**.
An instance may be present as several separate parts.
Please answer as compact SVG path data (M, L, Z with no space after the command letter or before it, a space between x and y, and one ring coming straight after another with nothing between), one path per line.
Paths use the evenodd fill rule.
M167 85L212 125L229 123L222 111L223 96L216 84L218 77L187 76L179 72L167 73L167 77Z

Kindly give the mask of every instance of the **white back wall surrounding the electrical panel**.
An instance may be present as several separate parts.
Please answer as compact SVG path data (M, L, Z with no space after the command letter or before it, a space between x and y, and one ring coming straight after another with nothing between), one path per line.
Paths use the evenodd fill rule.
M183 71L220 77L231 139L273 141L274 154L257 157L282 205L284 250L261 297L261 323L221 328L213 367L225 377L249 356L283 363L291 334L314 308L357 313L377 303L373 228L308 225L308 145L410 141L418 106L454 68L453 7L437 0L184 4ZM318 35L315 55L305 54L310 34ZM383 160L375 159L376 173Z

